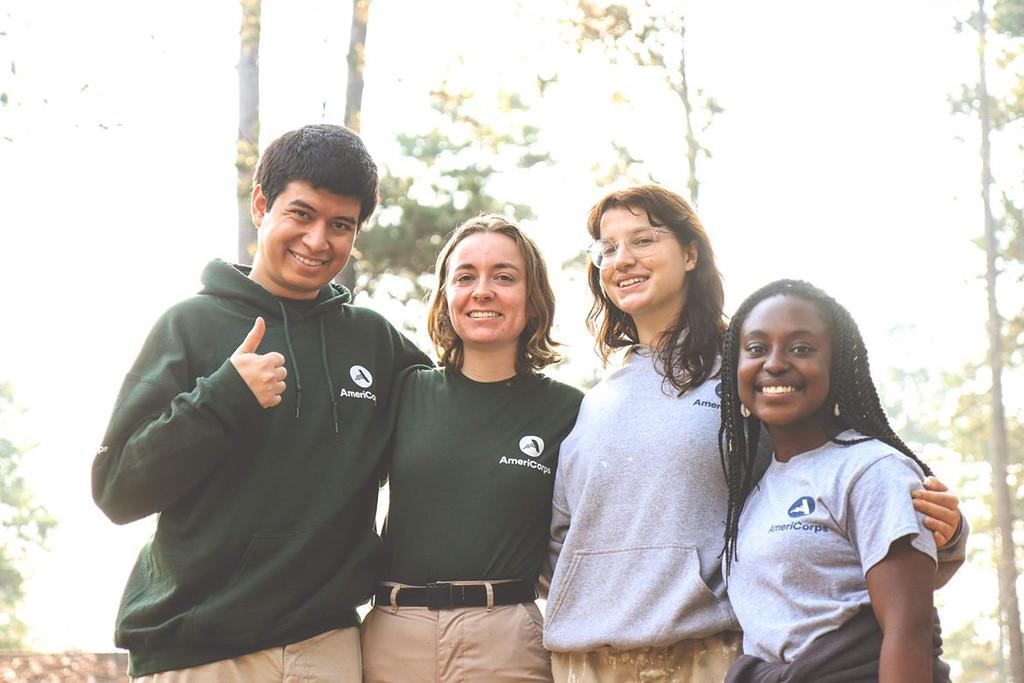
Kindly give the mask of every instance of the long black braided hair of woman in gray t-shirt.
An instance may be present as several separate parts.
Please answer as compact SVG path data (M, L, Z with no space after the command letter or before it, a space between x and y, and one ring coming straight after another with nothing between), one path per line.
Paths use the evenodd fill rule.
M799 297L813 304L831 333L830 388L825 400L836 414L836 421L842 430L852 429L863 435L854 439L833 438L833 442L852 445L878 439L913 460L926 475L932 474L928 465L910 451L890 426L871 380L864 339L850 312L810 283L779 280L766 285L740 304L729 323L722 348L722 425L718 432L718 451L729 489L723 549L726 574L732 560L737 557L739 514L756 483L755 461L761 435L761 421L753 416L743 418L739 412L736 382L739 334L754 307L775 296Z

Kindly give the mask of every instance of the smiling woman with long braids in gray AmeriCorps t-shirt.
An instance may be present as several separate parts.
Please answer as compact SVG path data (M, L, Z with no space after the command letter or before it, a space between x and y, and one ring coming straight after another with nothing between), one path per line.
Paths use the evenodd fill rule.
M935 541L909 496L931 471L890 427L849 312L799 281L744 301L725 337L722 424L726 573L748 655L731 680L758 680L758 667L792 667L794 681L796 667L948 680L933 643ZM761 425L775 452L755 484ZM881 631L855 632L868 608Z

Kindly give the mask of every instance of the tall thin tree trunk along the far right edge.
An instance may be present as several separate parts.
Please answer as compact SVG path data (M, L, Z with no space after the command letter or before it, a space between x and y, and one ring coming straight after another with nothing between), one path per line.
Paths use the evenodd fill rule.
M995 521L999 539L999 611L1006 624L1010 641L1010 675L1014 683L1024 683L1024 652L1021 641L1020 606L1017 601L1017 562L1014 553L1014 517L1010 486L1007 484L1007 421L1002 408L1002 318L995 298L996 263L998 244L995 239L995 221L992 218L990 186L988 84L985 78L986 51L985 0L978 0L978 97L981 119L981 199L985 211L985 282L988 294L988 364L992 371L990 401L992 405L992 490L995 494Z

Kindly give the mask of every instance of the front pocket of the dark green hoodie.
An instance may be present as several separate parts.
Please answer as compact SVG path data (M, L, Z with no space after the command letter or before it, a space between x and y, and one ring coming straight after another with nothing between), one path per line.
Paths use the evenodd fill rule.
M332 526L254 536L226 584L188 614L189 640L252 643L279 630L338 571Z

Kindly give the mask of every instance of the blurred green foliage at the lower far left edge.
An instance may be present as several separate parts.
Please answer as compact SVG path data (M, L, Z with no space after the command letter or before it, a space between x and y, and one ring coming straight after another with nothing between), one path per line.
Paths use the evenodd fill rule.
M15 411L10 384L0 382L0 425ZM44 547L56 523L32 497L19 474L27 453L0 436L0 649L24 645L25 625L15 611L25 597L22 566L28 554Z

